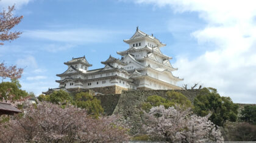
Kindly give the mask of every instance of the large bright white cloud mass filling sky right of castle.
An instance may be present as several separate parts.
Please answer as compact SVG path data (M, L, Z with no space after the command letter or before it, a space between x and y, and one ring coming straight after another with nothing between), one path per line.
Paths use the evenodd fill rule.
M135 0L169 6L175 12L197 12L207 22L191 33L205 53L189 59L179 55L174 66L183 83L215 87L235 102L256 103L256 1ZM207 50L207 44L215 45ZM177 47L178 48L178 47ZM194 47L191 47L193 49Z

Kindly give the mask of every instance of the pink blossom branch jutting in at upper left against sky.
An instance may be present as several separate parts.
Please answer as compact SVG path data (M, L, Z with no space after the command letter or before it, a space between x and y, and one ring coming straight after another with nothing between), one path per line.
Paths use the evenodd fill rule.
M8 8L8 11L3 10L0 12L0 40L12 41L21 35L21 32L10 32L10 30L21 22L23 16L13 16L14 5ZM3 43L0 43L3 45Z

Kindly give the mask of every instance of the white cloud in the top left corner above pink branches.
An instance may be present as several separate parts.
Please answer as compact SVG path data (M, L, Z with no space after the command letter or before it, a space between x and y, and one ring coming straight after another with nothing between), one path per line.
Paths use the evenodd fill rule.
M33 0L1 0L0 7L7 8L8 6L15 4L16 8L20 8L21 6L28 4L30 1Z

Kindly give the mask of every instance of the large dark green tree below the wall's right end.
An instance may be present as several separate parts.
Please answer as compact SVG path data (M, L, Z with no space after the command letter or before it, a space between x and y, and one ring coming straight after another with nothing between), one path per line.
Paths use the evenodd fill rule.
M202 88L194 99L194 112L199 116L212 113L210 120L219 126L228 121L235 122L238 105L233 104L229 97L221 97L215 88Z

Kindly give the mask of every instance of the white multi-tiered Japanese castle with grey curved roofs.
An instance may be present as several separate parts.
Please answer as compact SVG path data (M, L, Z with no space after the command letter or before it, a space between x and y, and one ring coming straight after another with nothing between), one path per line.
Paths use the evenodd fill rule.
M129 48L117 52L121 59L109 56L101 62L104 68L88 70L92 65L84 57L73 58L68 62L68 70L57 74L59 88L55 90L93 90L104 94L118 94L122 90L170 90L182 89L176 83L182 81L172 75L177 68L172 67L169 56L163 55L160 48L166 44L153 35L141 32L138 27L130 39L124 40Z

